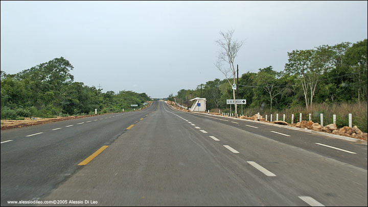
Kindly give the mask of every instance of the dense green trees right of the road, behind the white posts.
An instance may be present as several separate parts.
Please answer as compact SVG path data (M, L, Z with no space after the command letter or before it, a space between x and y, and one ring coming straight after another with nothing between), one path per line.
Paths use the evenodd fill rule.
M332 114L335 112L326 110L337 109L339 106L347 109L349 107L346 104L351 104L355 109L361 106L355 116L355 124L366 132L366 39L354 44L343 42L334 46L322 45L313 49L293 50L288 53L288 57L283 71L275 71L269 66L260 68L257 73L247 72L239 76L238 99L246 99L243 110L249 112L243 114L254 115L257 111L263 114L292 111L297 114L293 109L300 113ZM175 96L170 94L168 99L187 106L187 97L191 99L201 96L207 99L207 109L229 112L226 99L233 99L232 93L226 79L215 79L198 85L194 90L181 89ZM343 117L343 120L339 120L340 126L347 122L345 119L352 112L344 113L340 115ZM361 120L357 123L358 119Z

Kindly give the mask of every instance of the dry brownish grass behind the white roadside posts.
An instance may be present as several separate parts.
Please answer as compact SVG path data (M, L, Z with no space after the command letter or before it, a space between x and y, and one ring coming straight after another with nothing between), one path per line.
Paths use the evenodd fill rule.
M267 114L267 119L270 120L269 109L253 108L243 109L243 114L252 116L260 113L263 117ZM299 115L302 113L303 120L309 120L309 114L312 115L312 121L320 123L320 114L323 114L324 125L333 123L333 114L336 115L336 125L341 128L343 126L349 126L349 114L353 117L353 126L357 125L361 131L367 132L367 103L355 103L355 104L314 104L312 109L306 109L305 107L297 106L289 109L274 111L272 113L272 120L276 120L276 114L279 114L279 120L283 120L283 114L285 114L285 121L291 123L291 114L294 114L294 123L299 121Z

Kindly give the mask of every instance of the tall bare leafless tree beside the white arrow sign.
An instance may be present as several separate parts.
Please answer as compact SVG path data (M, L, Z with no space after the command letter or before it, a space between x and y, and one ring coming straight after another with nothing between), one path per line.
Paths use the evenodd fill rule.
M235 84L235 67L234 60L238 54L240 47L243 45L243 41L237 41L233 39L234 31L221 32L221 39L217 40L216 43L220 46L221 51L216 62L216 67L226 77L227 82L232 86ZM229 64L229 67L223 67L222 62ZM229 79L233 79L233 84ZM235 105L235 116L238 116L238 107L235 101L235 89L233 89L234 105Z

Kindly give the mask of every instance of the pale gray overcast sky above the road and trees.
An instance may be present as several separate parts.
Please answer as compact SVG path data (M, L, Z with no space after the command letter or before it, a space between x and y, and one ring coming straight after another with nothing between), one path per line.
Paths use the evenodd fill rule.
M220 31L245 40L239 74L287 52L367 38L367 2L1 2L1 69L17 73L54 58L75 81L103 91L168 97L215 78Z

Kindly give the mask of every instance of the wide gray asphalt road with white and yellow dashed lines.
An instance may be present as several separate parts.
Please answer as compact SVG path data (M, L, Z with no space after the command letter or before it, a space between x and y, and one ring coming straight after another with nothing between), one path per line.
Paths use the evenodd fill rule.
M367 206L367 145L163 101L116 115L2 131L1 205Z

